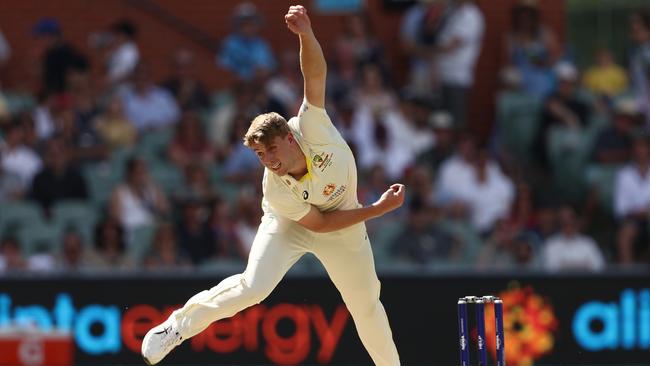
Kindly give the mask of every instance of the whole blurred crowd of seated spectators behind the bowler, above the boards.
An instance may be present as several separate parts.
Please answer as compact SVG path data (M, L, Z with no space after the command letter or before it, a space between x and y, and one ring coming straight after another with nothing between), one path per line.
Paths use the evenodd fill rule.
M91 37L101 65L56 19L34 26L41 89L0 85L0 271L245 263L263 172L241 137L258 113L295 114L302 76L252 4L232 16L215 66L237 80L225 90L203 85L187 49L152 79L129 20ZM355 153L360 201L408 187L402 209L367 223L379 271L647 266L650 12L629 19L624 66L602 49L579 70L536 2L519 1L489 136L467 113L484 32L472 0L417 3L402 20L402 84L365 14L325 49L328 113ZM11 47L0 33L0 67Z

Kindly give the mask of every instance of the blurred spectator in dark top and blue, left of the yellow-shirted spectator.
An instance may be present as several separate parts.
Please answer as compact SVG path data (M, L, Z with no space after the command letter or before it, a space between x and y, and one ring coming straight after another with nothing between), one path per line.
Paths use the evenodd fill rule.
M553 90L553 65L562 50L556 35L540 19L537 0L519 0L512 8L512 25L506 38L506 59L522 75L524 89L538 98Z

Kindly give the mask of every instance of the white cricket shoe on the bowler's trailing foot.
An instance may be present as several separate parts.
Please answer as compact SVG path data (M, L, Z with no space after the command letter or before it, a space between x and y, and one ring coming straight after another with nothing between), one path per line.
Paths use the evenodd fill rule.
M148 365L162 361L176 346L183 343L183 336L178 331L174 315L151 328L142 340L142 357Z

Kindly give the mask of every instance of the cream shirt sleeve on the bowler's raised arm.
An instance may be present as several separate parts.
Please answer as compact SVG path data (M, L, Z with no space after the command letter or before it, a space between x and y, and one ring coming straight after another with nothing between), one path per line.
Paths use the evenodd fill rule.
M332 120L323 108L319 108L304 99L298 117L292 118L290 124L296 124L302 138L310 144L323 145L343 142L343 138L334 127Z

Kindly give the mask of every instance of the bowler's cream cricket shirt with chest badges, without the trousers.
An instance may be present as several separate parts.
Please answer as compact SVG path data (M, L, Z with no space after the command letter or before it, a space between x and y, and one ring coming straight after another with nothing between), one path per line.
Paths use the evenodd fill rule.
M296 180L265 168L264 213L298 221L312 205L321 212L360 207L354 156L327 112L304 100L289 129L305 154L308 173Z

